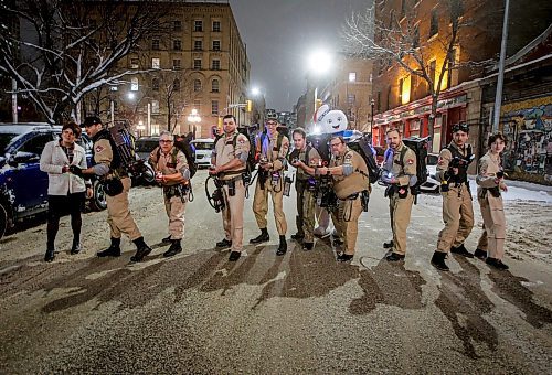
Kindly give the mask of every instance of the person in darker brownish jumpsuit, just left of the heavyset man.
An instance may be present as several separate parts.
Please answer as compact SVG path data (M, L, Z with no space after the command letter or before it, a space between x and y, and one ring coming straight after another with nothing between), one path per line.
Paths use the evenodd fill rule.
M295 154L291 165L297 168L295 190L297 191L297 234L291 238L302 240L302 249L311 250L315 247L315 207L316 180L315 167L318 165L320 154L307 144L307 133L302 128L294 129ZM308 154L307 154L308 153Z

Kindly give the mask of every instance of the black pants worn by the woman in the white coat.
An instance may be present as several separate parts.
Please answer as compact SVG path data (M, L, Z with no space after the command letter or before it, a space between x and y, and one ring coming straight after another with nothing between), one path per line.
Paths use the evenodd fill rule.
M67 195L47 196L47 248L54 248L55 236L60 228L60 217L71 215L73 242L79 242L83 219L81 212L84 208L85 192Z

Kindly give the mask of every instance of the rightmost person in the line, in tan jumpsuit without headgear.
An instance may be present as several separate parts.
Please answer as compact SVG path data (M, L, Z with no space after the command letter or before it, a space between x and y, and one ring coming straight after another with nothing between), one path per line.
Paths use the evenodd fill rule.
M500 162L500 153L505 150L506 137L501 133L489 137L489 151L479 159L476 182L477 200L481 207L484 233L479 238L475 256L485 258L486 262L498 269L508 269L502 262L505 256L506 217L501 191L508 191Z

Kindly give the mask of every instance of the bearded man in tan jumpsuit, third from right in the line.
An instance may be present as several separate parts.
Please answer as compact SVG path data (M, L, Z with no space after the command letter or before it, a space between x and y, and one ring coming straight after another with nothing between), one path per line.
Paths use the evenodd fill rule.
M416 153L403 143L399 129L391 128L386 132L388 150L383 163L382 181L388 184L385 196L389 196L391 216L391 253L385 257L390 261L404 259L406 254L406 228L411 222L412 195L410 186L416 184ZM385 244L384 244L385 245Z

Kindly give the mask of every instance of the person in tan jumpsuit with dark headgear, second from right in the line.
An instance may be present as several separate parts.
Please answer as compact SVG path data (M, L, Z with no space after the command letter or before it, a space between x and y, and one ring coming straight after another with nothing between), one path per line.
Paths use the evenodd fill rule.
M439 232L437 250L433 254L432 265L439 270L448 270L445 257L448 251L468 258L474 255L464 242L474 227L474 207L469 191L468 167L473 160L471 146L467 143L469 127L461 122L453 127L453 140L439 153L437 176L442 181L443 221L445 227Z

